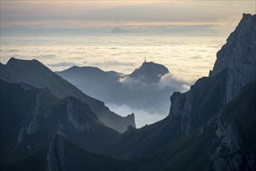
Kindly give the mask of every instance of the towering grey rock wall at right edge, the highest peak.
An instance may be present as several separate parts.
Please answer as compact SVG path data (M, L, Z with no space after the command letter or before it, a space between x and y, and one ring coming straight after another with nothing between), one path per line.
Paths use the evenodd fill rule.
M256 16L244 14L236 30L230 34L220 51L212 70L216 75L228 69L224 103L230 102L240 89L256 75Z

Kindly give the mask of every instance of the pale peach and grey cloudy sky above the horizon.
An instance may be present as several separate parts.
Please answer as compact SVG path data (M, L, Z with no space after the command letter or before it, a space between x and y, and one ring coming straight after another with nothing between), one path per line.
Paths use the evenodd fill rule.
M1 26L235 24L255 1L2 1Z

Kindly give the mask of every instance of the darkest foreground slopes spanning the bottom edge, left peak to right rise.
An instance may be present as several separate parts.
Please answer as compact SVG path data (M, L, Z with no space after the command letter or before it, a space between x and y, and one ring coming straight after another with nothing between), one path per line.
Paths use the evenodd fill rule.
M59 134L43 148L3 170L253 170L256 167L256 81L211 120L187 136L139 158L121 160L86 152ZM163 121L157 124L164 124ZM150 129L149 126L146 129ZM153 131L153 129L151 129ZM162 129L163 131L163 129ZM124 133L135 135L132 129ZM130 137L131 138L131 137ZM137 141L139 144L139 141ZM156 147L155 147L156 148ZM45 168L46 167L46 168Z

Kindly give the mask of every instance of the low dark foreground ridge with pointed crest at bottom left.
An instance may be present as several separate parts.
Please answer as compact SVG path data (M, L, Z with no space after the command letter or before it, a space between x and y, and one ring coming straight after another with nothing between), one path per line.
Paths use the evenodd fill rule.
M1 170L125 170L122 162L107 155L86 152L60 134L48 148L18 162L0 164Z

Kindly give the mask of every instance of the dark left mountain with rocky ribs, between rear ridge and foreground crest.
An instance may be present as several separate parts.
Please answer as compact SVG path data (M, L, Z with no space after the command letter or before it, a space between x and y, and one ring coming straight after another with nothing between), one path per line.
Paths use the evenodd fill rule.
M86 103L58 99L48 89L1 79L1 161L12 162L47 148L55 133L89 152L107 152L119 136Z

